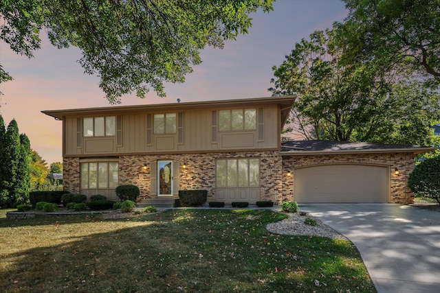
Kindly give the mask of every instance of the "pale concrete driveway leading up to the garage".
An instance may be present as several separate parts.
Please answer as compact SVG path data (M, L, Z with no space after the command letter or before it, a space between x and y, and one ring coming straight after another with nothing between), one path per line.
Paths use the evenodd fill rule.
M440 292L440 213L399 204L299 204L358 248L377 292Z

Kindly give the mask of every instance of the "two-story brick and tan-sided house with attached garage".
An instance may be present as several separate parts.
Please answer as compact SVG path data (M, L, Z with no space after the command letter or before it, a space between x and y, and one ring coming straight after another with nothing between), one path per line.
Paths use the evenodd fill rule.
M433 148L281 145L293 103L265 97L43 113L63 121L63 188L75 194L116 199L115 187L133 184L141 199L206 189L208 201L223 202L413 201L406 180L414 156Z

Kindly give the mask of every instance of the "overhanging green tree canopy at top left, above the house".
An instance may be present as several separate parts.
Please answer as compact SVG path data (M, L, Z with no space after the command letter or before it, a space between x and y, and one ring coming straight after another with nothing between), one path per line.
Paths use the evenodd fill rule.
M272 10L272 0L14 0L0 5L0 40L28 57L41 30L58 48L76 46L86 73L100 77L109 102L164 82L184 82L206 45L245 34L250 13ZM10 75L0 67L0 82Z

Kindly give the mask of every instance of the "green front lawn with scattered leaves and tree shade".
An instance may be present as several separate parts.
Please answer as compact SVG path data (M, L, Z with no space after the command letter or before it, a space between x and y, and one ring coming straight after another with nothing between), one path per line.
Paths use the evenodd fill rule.
M269 210L0 219L2 292L375 292L351 242L274 235Z

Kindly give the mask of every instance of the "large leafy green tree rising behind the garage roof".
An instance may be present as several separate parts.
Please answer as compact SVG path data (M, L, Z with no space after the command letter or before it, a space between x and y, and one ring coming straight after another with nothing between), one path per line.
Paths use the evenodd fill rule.
M297 132L306 139L428 143L430 122L440 119L439 95L415 81L393 84L375 62L342 63L335 34L314 32L273 67L273 95L298 95Z

